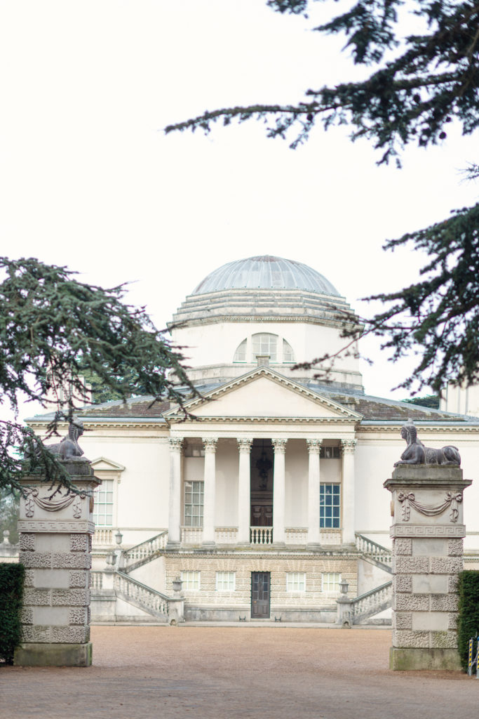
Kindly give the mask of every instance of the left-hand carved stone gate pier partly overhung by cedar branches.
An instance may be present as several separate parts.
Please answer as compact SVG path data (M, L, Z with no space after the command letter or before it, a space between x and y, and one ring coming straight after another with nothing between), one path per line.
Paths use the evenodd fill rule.
M88 461L65 467L80 495L57 492L25 477L20 500L19 562L24 564L23 641L14 663L23 667L88 667L93 489L100 482ZM53 496L52 496L53 495Z

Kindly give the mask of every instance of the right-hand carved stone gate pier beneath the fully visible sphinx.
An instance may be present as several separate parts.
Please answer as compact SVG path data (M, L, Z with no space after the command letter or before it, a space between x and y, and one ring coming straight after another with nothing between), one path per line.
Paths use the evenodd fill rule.
M462 492L471 480L453 465L400 465L392 493L391 669L460 669L457 574L462 571Z

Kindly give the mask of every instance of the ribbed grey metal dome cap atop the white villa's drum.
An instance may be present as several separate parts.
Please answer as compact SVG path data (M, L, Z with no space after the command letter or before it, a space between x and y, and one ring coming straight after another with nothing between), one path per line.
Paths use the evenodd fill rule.
M338 290L312 267L283 257L248 257L227 262L213 270L193 290L193 295L232 289L307 290L322 295L340 296Z

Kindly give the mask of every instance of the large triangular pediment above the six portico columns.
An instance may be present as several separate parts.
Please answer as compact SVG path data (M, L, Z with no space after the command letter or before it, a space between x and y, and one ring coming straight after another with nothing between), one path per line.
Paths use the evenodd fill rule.
M357 421L361 415L323 397L269 367L258 367L203 398L190 400L197 418L309 418ZM165 417L180 414L177 408ZM181 413L182 414L182 413Z

